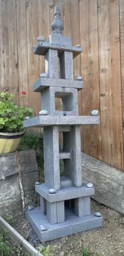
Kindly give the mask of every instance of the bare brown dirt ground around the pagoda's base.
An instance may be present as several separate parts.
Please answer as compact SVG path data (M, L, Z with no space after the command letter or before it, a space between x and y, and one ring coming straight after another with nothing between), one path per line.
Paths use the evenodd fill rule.
M16 221L14 228L37 250L41 249L42 245L50 245L50 252L55 256L84 255L80 254L80 250L84 247L88 248L92 252L91 255L94 256L100 254L105 256L124 255L124 215L93 200L91 200L91 209L102 214L104 218L102 228L61 237L49 242L42 243L38 240L26 220L24 212L19 212L14 216Z

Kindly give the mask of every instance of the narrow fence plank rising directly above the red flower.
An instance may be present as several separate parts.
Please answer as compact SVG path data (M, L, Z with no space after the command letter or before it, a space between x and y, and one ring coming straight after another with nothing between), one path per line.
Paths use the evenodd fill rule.
M26 3L25 0L16 1L17 9L17 42L18 42L18 83L19 94L25 90L25 106L29 106L28 92L28 61L27 61L27 30L26 30ZM19 98L20 105L23 100Z

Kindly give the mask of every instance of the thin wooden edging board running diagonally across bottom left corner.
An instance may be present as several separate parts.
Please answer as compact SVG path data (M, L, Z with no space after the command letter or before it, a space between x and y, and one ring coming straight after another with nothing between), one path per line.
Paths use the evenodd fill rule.
M25 252L29 253L31 256L43 256L39 253L31 244L29 244L22 235L20 235L11 225L9 225L4 218L0 216L0 227L8 231L8 236L13 242L21 244Z

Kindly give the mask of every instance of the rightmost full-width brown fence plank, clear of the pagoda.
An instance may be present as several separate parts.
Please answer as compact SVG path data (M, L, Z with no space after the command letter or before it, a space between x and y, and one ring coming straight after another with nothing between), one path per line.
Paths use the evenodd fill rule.
M123 170L119 1L98 0L102 161Z

